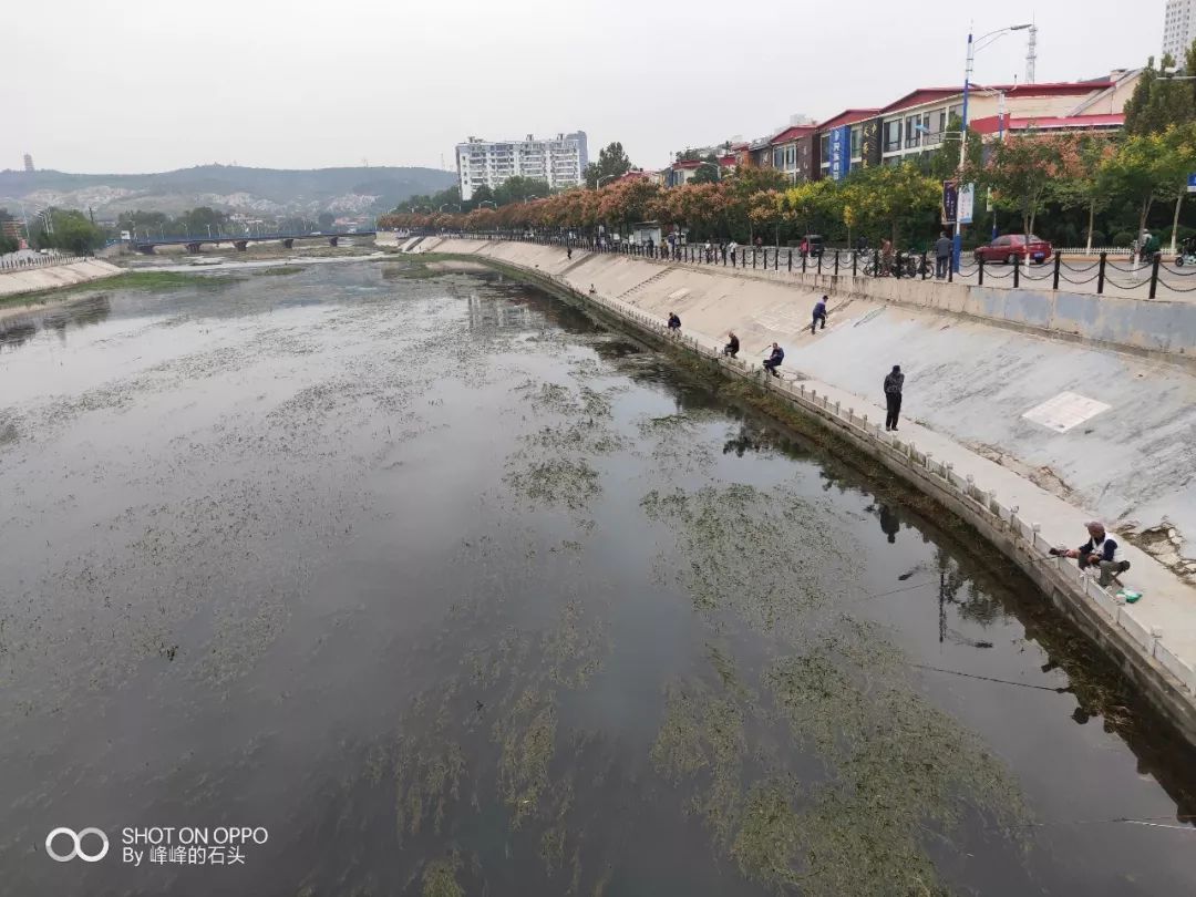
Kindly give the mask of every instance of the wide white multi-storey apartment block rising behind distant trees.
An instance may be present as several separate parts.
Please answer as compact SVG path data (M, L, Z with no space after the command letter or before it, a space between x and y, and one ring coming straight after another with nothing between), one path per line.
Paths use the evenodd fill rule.
M586 133L557 134L548 140L489 141L470 138L457 144L457 179L462 202L474 199L480 187L492 190L508 178L547 181L550 189L578 187L590 164Z

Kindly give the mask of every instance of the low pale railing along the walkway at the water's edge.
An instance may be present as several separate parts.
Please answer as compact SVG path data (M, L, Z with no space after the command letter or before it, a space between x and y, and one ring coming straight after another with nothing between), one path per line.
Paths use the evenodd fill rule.
M928 481L957 504L982 518L987 525L1007 536L1015 554L1024 555L1037 567L1048 567L1076 600L1096 610L1102 618L1123 633L1134 648L1163 666L1188 695L1196 695L1196 666L1167 647L1166 635L1161 629L1152 628L1139 620L1134 605L1125 604L1112 591L1100 586L1088 570L1079 569L1064 557L1046 560L1054 545L1043 537L1039 524L1020 517L1017 505L1001 504L995 490L982 488L971 475L957 474L951 462L935 460L933 452L920 450L913 440L902 440L883 431L880 423L868 420L867 414L856 414L854 408L844 408L842 402L831 402L828 396L819 396L817 390L807 389L804 383L769 377L762 367L757 368L745 359L722 355L716 346L703 344L692 336L672 335L664 322L634 306L598 293L584 295L556 275L543 271L535 271L535 275L545 277L573 295L596 303L617 317L648 329L663 338L685 346L739 377L753 378L762 383L764 389L781 393L799 408L828 420L836 428L864 441L873 454L907 468L919 481Z

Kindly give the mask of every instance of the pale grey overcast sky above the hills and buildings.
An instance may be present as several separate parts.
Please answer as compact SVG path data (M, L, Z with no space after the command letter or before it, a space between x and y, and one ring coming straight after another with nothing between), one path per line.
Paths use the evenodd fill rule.
M53 0L16 4L0 167L453 164L466 135L584 129L634 163L963 80L966 35L1037 18L1039 81L1159 53L1164 0ZM1023 80L1025 32L977 56Z

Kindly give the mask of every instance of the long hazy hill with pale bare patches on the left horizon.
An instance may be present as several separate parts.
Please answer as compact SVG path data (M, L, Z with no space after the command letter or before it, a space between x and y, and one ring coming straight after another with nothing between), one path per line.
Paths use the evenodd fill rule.
M250 169L200 165L157 175L0 171L0 206L93 209L99 219L142 209L178 214L199 206L263 215L389 212L401 200L451 187L438 169Z

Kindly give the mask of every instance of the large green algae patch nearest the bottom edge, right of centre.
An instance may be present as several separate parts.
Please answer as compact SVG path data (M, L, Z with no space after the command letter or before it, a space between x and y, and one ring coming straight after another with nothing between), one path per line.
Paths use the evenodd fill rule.
M945 893L927 843L965 813L1021 837L1017 783L913 690L875 627L842 618L806 653L775 659L761 701L721 651L708 659L713 683L669 687L651 757L745 878L779 893ZM803 780L792 750L770 749L787 737L813 750L824 776Z

